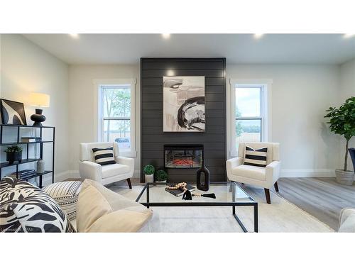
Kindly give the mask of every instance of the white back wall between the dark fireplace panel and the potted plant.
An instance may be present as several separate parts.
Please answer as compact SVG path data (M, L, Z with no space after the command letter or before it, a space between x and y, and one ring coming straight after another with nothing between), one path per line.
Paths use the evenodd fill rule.
M338 66L227 65L227 77L273 79L269 141L280 143L283 177L334 176L339 138L329 132L323 116L338 101Z

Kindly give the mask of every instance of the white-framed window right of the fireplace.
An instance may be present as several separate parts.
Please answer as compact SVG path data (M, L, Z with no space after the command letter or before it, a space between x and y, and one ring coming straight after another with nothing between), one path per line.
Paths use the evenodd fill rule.
M271 82L231 79L231 156L241 142L268 141L268 92Z

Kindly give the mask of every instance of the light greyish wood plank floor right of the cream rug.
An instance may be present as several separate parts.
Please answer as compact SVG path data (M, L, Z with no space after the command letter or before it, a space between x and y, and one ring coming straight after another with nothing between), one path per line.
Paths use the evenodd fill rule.
M334 230L338 229L340 210L355 208L355 184L344 186L335 178L281 178L278 187L283 198Z

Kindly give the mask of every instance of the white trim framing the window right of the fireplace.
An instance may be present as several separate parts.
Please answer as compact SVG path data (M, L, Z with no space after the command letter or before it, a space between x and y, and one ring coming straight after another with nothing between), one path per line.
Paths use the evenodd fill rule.
M262 130L263 133L261 141L271 142L271 99L272 99L272 79L229 79L229 88L226 94L226 108L227 108L227 157L238 156L238 150L236 149L235 143L235 87L262 87L261 97L263 97L263 104L261 106L261 117L262 117ZM228 100L229 99L229 100Z

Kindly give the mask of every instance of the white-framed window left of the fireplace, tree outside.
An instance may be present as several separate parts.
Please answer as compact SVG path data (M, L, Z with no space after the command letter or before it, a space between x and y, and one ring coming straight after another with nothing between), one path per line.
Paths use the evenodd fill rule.
M116 82L114 82L116 81ZM134 131L135 80L99 82L99 141L119 144L124 156L136 156Z

